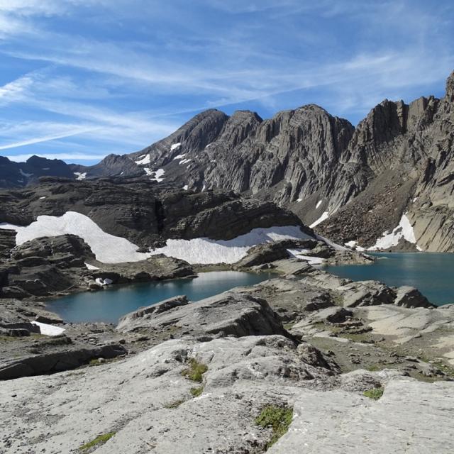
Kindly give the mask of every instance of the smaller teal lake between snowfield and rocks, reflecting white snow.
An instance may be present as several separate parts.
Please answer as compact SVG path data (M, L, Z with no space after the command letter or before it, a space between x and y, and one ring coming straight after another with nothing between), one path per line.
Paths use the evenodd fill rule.
M59 314L67 322L116 323L128 312L163 299L186 295L191 301L198 301L233 287L258 284L272 276L271 273L216 271L200 273L194 279L114 285L99 292L72 294L49 301L47 309Z

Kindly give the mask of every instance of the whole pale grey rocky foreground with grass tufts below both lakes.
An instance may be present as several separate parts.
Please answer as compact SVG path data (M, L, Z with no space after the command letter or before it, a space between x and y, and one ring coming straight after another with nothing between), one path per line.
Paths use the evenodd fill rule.
M71 453L110 434L87 452L449 453L453 371L427 358L454 359L454 306L411 309L396 300L414 289L352 287L306 262L302 270L195 303L162 301L116 330L93 323L56 338L0 338L25 347L9 347L6 371L63 364L60 353L87 345L101 357L1 382L0 451ZM114 339L128 355L109 360L103 348ZM378 387L378 401L362 394ZM271 447L272 428L256 423L268 406L293 414Z

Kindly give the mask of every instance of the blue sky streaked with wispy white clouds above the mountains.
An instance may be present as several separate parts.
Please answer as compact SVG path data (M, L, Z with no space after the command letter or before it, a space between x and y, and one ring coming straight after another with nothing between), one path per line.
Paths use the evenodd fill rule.
M0 0L0 155L89 164L215 107L443 96L450 0Z

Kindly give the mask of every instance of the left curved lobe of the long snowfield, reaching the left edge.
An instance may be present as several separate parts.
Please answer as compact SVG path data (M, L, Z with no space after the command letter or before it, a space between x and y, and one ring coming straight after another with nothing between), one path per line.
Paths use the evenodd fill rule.
M138 262L149 254L136 252L138 246L119 236L110 235L84 214L67 211L63 216L38 216L29 226L0 224L0 228L15 230L16 244L42 236L58 236L72 233L82 238L92 248L96 260L104 263Z

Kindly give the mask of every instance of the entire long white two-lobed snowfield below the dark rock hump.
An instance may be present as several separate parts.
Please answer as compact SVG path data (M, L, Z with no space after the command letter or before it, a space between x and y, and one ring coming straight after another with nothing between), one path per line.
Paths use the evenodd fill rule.
M3 223L0 224L0 228L15 230L17 245L43 236L72 233L85 240L92 248L96 260L104 263L138 262L156 254L179 258L189 263L234 263L245 257L253 245L292 238L311 238L301 232L298 226L254 228L249 233L232 240L210 238L167 240L163 248L149 253L138 253L138 246L131 241L104 232L88 216L74 211L67 211L63 216L38 216L29 226Z

